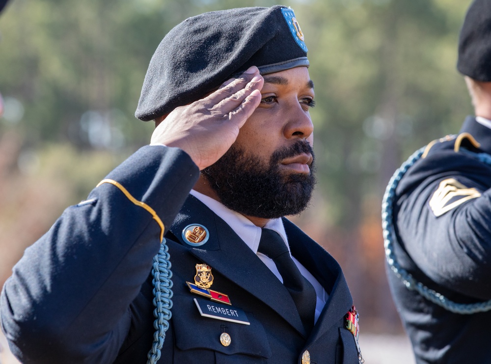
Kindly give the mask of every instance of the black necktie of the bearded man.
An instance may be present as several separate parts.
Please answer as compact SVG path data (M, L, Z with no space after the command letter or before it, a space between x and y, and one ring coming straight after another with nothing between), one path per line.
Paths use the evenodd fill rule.
M314 287L302 276L288 251L285 241L276 231L262 229L257 251L273 259L279 274L283 278L283 285L290 292L299 311L305 331L309 335L314 327L315 304L317 301Z

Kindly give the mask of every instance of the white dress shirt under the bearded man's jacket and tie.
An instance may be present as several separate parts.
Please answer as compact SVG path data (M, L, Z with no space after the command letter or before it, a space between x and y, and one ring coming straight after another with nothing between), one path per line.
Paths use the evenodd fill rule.
M261 228L252 224L252 222L247 219L244 215L238 212L232 211L225 207L221 202L213 199L209 196L203 195L197 191L191 190L191 195L203 202L210 210L217 214L225 223L227 223L239 237L244 240L246 245L263 261L264 264L273 272L273 274L283 282L281 275L273 262L268 256L257 251L259 247L259 239L261 238ZM290 246L288 245L288 239L285 232L285 227L280 218L272 219L264 226L265 228L272 229L276 231L285 241L288 251L290 251ZM326 304L328 294L326 290L322 287L318 280L310 274L310 272L300 264L300 262L292 256L293 261L299 267L300 273L314 286L315 293L317 295L317 302L315 305L315 322L319 318L324 305Z

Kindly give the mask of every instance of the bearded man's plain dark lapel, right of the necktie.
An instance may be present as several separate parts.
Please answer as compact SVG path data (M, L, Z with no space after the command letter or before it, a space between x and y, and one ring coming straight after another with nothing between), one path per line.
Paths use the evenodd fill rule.
M317 320L307 345L325 334L351 309L353 298L336 260L296 225L283 219L292 255L309 270L329 294L326 306Z

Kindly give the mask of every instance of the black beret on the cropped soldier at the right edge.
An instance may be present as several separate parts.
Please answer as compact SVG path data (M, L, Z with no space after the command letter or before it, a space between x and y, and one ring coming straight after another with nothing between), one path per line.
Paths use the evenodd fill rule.
M457 69L474 80L491 82L491 0L474 0L467 10Z

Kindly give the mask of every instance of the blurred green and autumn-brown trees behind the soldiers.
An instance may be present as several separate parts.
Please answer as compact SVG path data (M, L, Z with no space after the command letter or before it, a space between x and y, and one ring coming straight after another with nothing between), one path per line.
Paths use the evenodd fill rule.
M384 274L382 195L412 151L472 113L455 69L469 3L283 1L305 34L317 101L319 184L294 220L342 265L362 332L402 331ZM0 285L66 206L150 140L153 123L134 112L164 34L205 11L274 4L10 1L0 16Z

